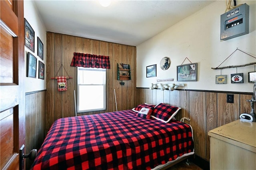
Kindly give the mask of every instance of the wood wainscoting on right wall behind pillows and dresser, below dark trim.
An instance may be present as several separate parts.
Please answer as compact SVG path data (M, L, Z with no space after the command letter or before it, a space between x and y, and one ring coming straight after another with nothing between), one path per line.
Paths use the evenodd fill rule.
M235 93L234 103L226 103L227 94L232 92L164 90L137 88L136 105L141 103L166 103L181 107L175 116L177 120L188 117L185 121L193 128L195 154L210 160L210 138L208 131L239 119L241 113L250 113L250 93ZM256 103L254 103L256 108Z

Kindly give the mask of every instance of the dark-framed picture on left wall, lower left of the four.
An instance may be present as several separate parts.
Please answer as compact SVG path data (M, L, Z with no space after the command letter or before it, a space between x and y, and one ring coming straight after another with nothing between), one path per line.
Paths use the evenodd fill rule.
M36 78L37 58L30 52L27 54L27 77Z

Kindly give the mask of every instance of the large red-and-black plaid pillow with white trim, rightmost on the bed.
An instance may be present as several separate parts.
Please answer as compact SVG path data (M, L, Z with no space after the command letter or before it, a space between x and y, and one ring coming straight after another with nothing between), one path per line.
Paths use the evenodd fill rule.
M164 103L159 103L154 107L154 111L151 115L154 119L162 121L164 123L169 122L180 110L180 107L166 105Z

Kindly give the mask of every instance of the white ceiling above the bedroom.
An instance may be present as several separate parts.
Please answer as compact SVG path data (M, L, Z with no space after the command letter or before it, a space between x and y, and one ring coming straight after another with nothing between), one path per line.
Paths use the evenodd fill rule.
M36 0L46 30L137 46L213 0Z

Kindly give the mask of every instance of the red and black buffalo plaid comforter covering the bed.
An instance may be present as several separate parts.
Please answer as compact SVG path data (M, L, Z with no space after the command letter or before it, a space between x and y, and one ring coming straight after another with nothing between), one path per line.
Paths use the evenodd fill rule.
M50 128L32 169L150 169L192 152L189 125L132 110L67 117Z

